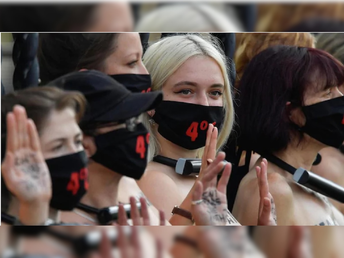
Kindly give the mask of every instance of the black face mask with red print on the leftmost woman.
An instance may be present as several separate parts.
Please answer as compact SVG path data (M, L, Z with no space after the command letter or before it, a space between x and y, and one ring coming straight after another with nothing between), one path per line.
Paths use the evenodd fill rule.
M85 151L45 160L51 175L50 207L72 211L88 189L87 155Z

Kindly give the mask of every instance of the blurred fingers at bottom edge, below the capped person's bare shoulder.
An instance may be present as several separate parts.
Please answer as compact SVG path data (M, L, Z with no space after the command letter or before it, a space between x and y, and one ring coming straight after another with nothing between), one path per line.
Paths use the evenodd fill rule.
M148 213L148 206L147 201L145 198L140 198L141 203L141 214L139 209L136 206L136 199L135 197L130 197L130 216L133 222L133 226L150 226L150 218ZM142 215L142 222L141 222L141 215ZM164 212L160 211L160 226L165 225L165 214ZM118 209L118 224L121 226L127 226L128 224L128 217L126 211L123 207L123 204L119 204Z

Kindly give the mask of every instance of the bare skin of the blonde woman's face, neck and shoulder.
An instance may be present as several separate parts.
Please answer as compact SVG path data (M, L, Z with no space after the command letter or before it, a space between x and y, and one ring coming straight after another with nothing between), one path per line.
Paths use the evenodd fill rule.
M185 81L193 85L181 83ZM176 84L178 86L175 86ZM223 85L224 78L221 69L212 58L191 57L168 78L162 87L162 92L164 100L222 106ZM197 150L183 149L164 139L158 132L156 135L161 144L160 155L172 159L196 158ZM144 178L138 184L152 204L170 218L174 205L183 202L195 180L195 176L180 176L168 166L150 162Z

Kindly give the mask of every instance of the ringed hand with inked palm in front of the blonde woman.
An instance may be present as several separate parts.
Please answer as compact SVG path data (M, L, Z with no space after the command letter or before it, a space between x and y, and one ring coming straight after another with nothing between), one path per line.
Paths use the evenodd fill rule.
M223 159L224 153L220 152L214 162L205 169L203 178L195 183L191 213L196 225L224 226L227 224L226 189L232 165L230 163L225 165L217 184L217 174L224 166Z

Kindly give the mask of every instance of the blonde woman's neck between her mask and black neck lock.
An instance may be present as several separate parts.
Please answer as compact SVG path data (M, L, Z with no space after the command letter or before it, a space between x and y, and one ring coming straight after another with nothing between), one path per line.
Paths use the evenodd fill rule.
M173 142L170 142L169 140L166 140L164 137L160 135L160 133L157 132L157 139L161 146L161 151L159 155L178 160L179 158L189 158L189 159L195 159L197 158L197 152L198 150L187 150L184 149Z

